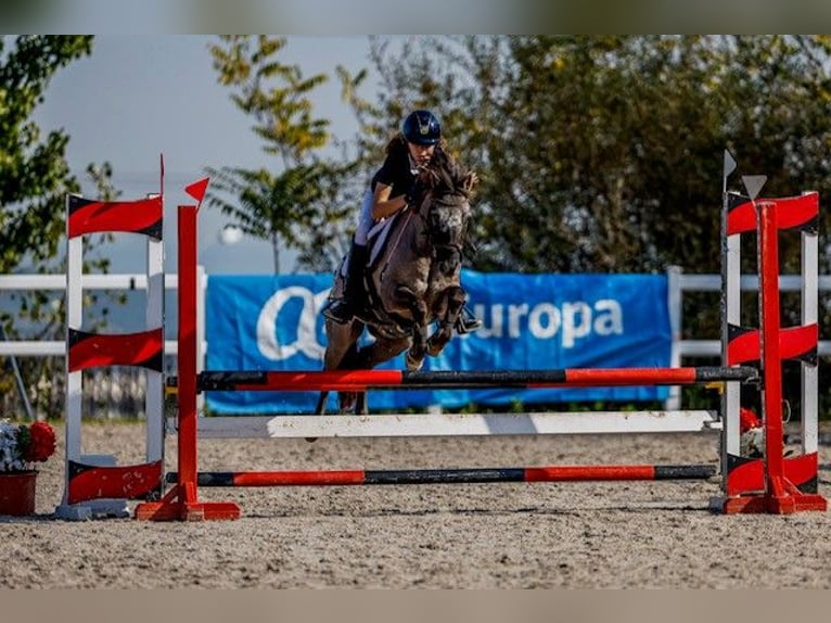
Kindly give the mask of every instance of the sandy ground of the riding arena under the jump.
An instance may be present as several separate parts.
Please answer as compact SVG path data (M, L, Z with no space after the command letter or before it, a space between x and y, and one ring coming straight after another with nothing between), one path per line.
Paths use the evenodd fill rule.
M143 428L85 425L84 452L141 462ZM175 469L176 437L168 443ZM714 433L215 440L200 469L717 463ZM831 588L831 512L719 516L718 481L200 488L236 521L54 519L63 447L36 517L0 518L0 587ZM831 448L820 449L831 496ZM13 561L10 563L9 561Z

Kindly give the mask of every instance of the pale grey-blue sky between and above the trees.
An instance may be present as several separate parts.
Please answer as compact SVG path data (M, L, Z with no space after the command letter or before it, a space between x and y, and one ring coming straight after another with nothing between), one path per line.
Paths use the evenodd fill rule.
M68 134L66 155L78 179L89 163L108 162L119 199L142 199L159 189L159 156L165 163L165 271L176 271L176 211L193 204L183 188L206 176L206 167L259 168L273 156L261 151L252 118L235 107L231 91L217 84L208 44L215 36L97 35L92 54L60 69L46 91L35 120L44 132ZM312 93L315 116L331 120L331 131L350 138L357 123L341 101L336 65L351 72L369 67L366 36L289 37L280 60L296 64L304 76L330 80ZM371 86L369 86L371 88ZM365 96L368 92L363 93ZM94 188L85 181L85 193ZM208 274L261 275L273 271L270 245L243 238L231 247L220 243L229 224L218 209L200 211L200 263ZM111 272L143 272L144 242L119 234L108 245ZM281 270L295 270L294 256L281 255Z

